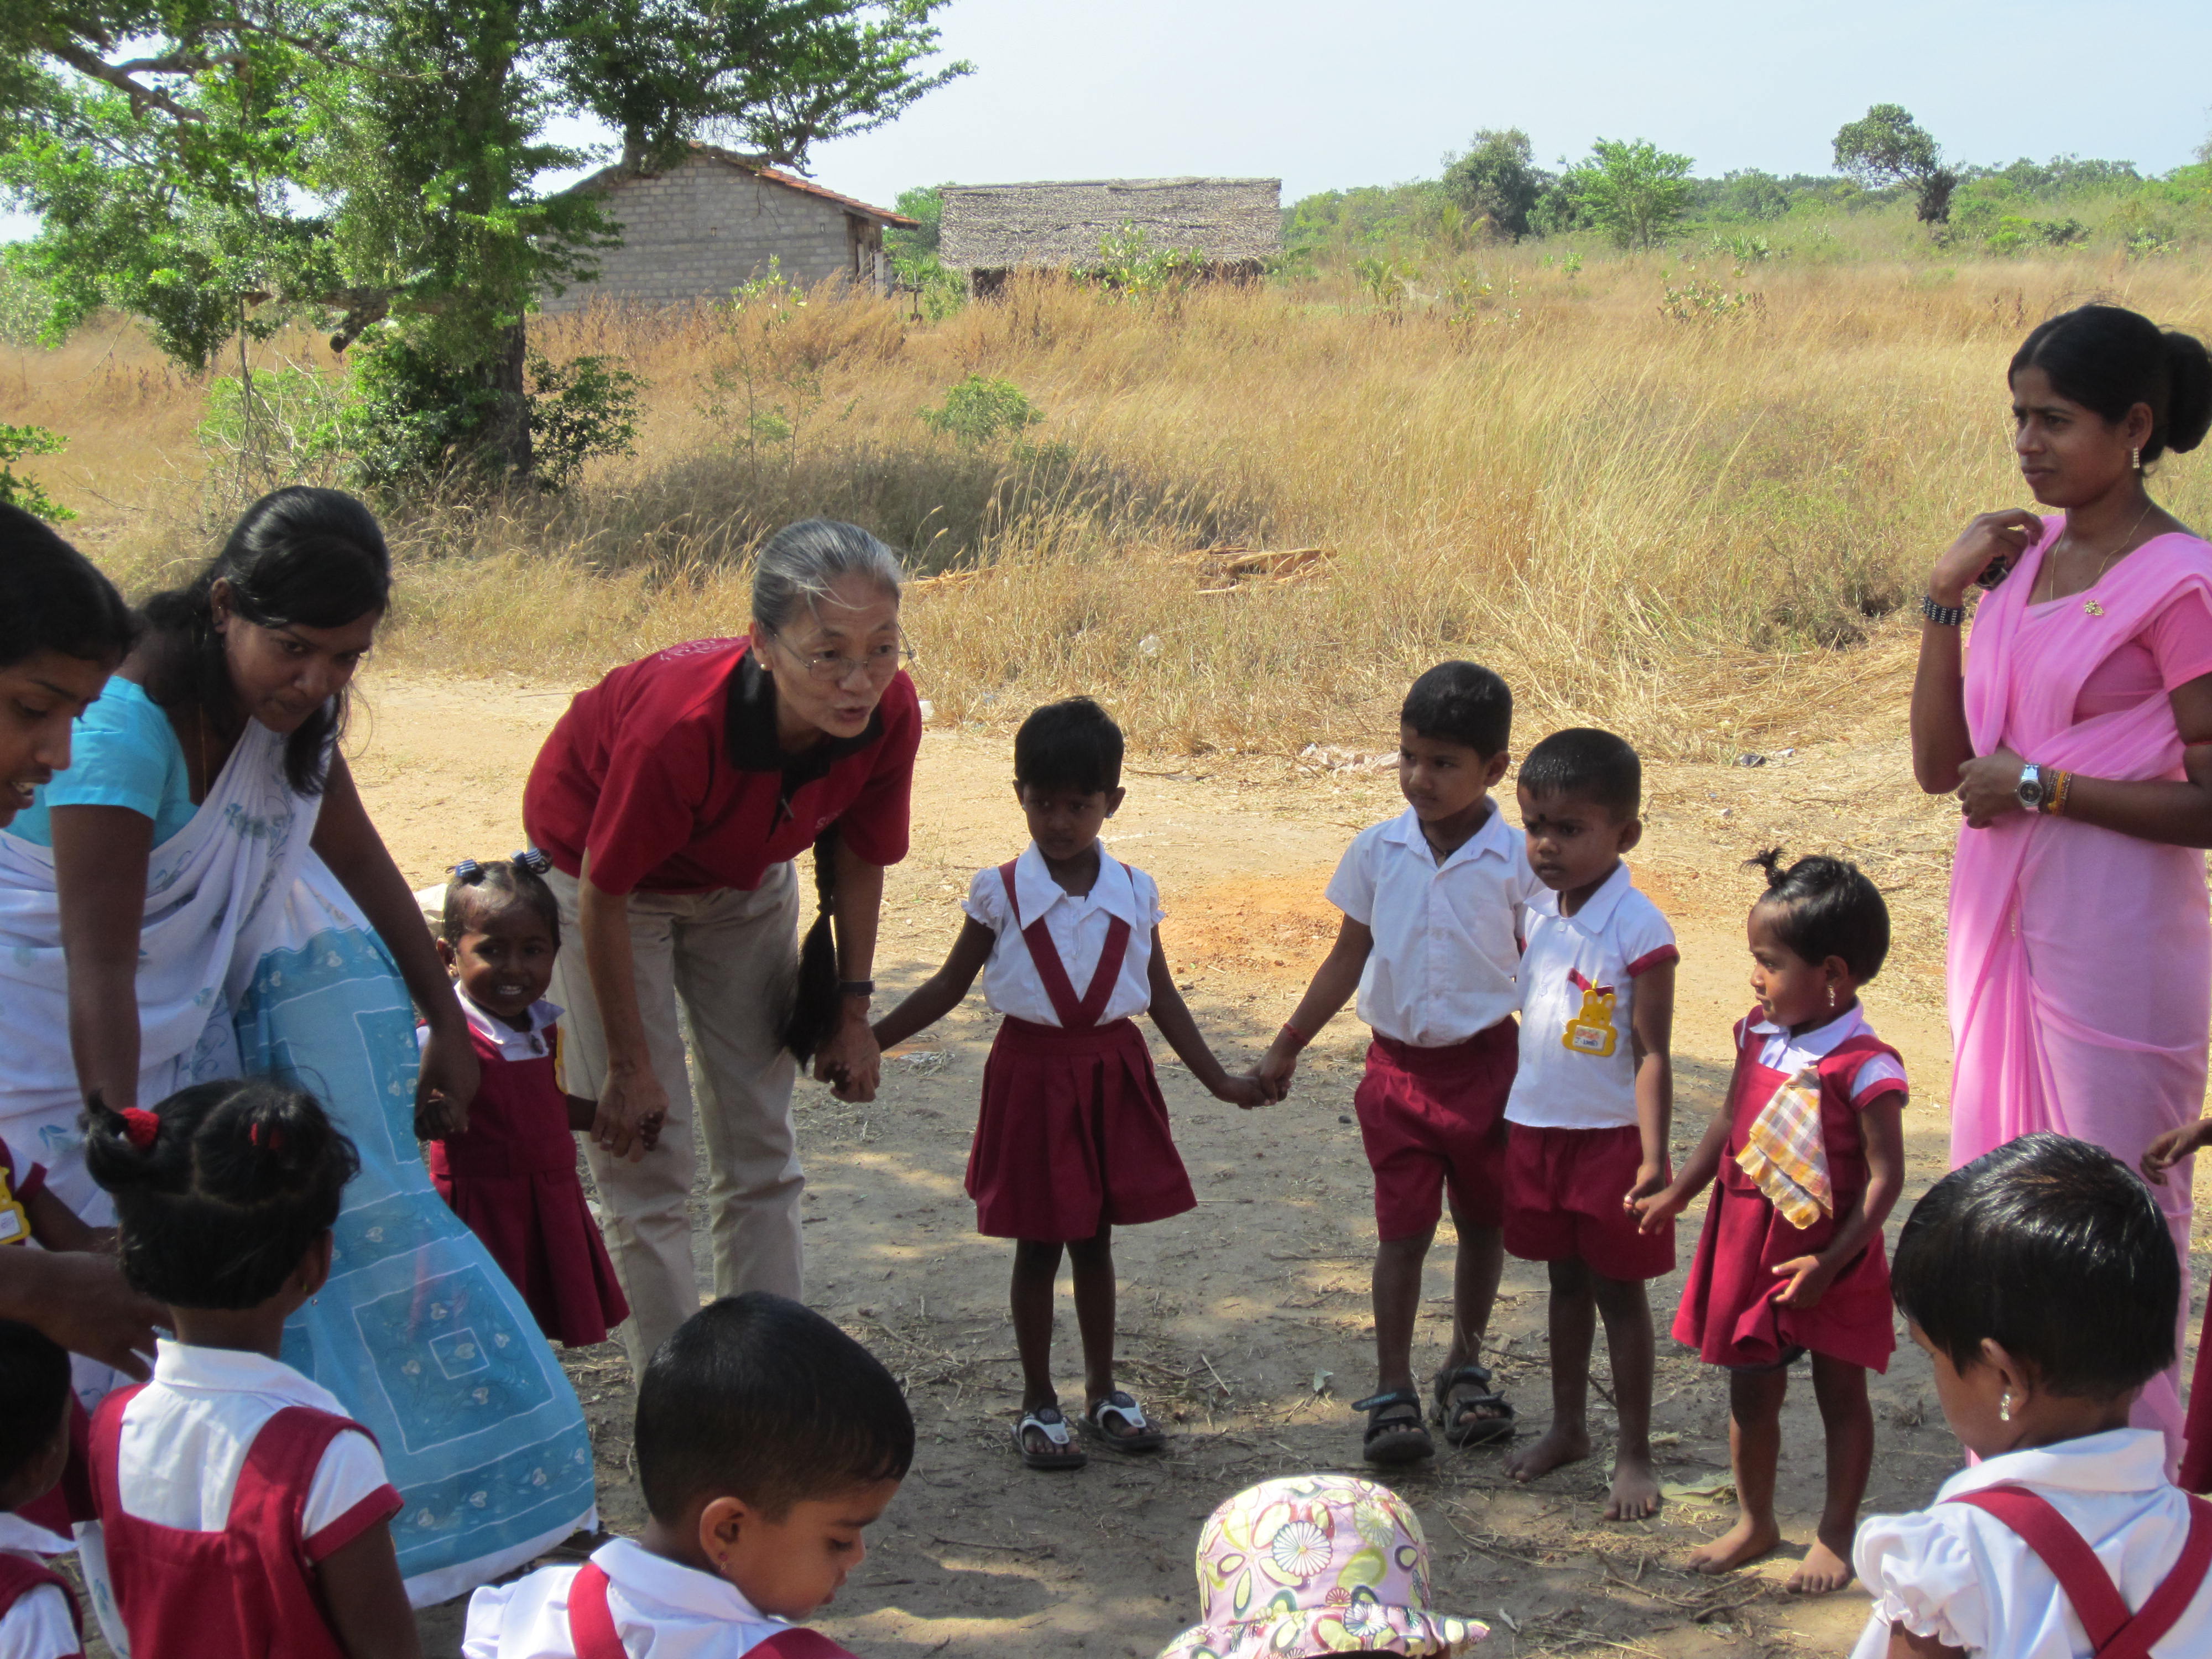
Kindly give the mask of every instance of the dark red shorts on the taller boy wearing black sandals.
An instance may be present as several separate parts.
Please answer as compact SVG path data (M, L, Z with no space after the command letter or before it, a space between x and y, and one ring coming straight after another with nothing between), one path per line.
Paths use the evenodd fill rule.
M1413 1239L1444 1212L1444 1188L1469 1228L1504 1214L1506 1095L1520 1029L1500 1020L1449 1048L1416 1048L1380 1031L1352 1095L1376 1172L1376 1237Z

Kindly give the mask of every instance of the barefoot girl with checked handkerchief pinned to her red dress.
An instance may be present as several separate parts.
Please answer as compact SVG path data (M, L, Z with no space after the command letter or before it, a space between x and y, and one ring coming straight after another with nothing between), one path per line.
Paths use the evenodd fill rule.
M1752 863L1767 872L1747 922L1759 1006L1736 1022L1728 1110L1641 1217L1659 1228L1712 1186L1674 1340L1728 1369L1739 1517L1690 1566L1728 1573L1781 1542L1781 1409L1790 1367L1809 1349L1827 1502L1790 1588L1825 1593L1851 1582L1851 1528L1874 1467L1867 1371L1887 1371L1896 1347L1882 1223L1905 1179L1905 1062L1858 1006L1858 987L1889 953L1874 883L1840 858L1783 869L1767 852Z

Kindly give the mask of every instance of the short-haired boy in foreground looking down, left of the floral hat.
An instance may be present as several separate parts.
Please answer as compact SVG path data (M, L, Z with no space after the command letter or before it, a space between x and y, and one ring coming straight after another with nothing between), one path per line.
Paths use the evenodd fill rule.
M834 1659L794 1621L867 1557L911 1462L914 1416L874 1354L783 1296L710 1303L637 1385L646 1535L478 1590L462 1659Z

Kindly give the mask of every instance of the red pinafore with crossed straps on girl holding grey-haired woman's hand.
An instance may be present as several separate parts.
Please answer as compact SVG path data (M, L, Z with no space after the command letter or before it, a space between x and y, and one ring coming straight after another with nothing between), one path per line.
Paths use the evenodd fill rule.
M1013 863L998 867L1013 916ZM1106 929L1082 998L1040 916L1022 929L1057 1026L1002 1018L982 1068L967 1190L987 1239L1091 1239L1099 1225L1164 1221L1199 1206L1168 1130L1152 1051L1133 1020L1099 1024L1130 925ZM1000 938L1000 949L1011 949Z

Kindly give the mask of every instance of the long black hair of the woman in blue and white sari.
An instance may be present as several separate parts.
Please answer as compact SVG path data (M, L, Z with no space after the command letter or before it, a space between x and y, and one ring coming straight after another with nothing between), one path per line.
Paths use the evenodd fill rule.
M248 507L188 588L146 599L153 633L146 695L168 712L188 708L230 726L239 721L239 699L215 628L217 582L228 591L230 613L257 628L343 628L365 615L380 617L392 604L392 553L376 515L352 495L292 484ZM285 739L283 770L294 794L323 792L347 706L341 690Z

